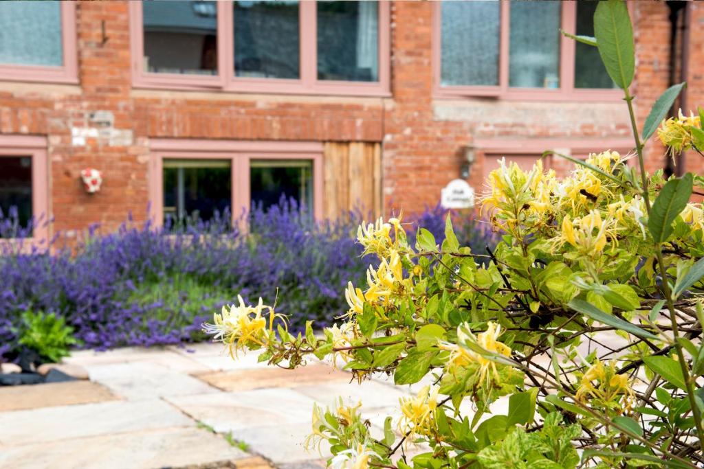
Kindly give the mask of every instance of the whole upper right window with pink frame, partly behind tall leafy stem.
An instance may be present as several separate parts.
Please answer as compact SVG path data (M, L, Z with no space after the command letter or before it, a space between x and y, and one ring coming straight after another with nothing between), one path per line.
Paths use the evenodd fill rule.
M442 1L434 4L437 96L618 99L593 36L597 1Z

